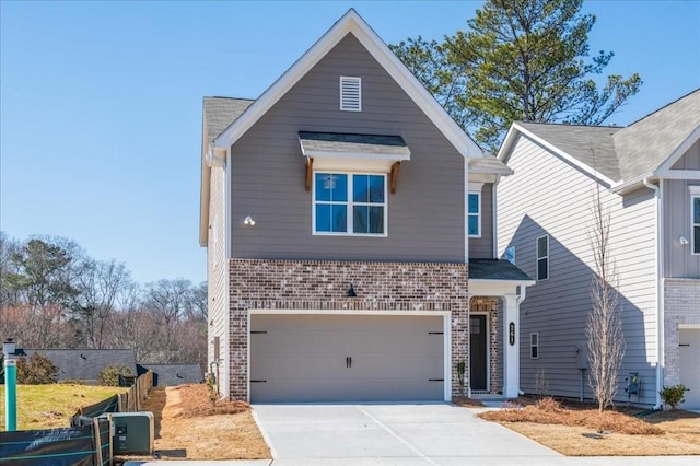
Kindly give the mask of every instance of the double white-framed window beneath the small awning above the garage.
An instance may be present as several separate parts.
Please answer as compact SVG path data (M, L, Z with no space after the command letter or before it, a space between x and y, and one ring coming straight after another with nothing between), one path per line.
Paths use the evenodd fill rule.
M315 173L315 234L386 236L386 175Z

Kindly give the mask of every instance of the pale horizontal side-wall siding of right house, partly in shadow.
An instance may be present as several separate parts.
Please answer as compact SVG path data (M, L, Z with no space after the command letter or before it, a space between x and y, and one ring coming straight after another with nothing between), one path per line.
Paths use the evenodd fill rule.
M515 264L536 277L536 238L549 234L549 280L527 289L521 305L521 387L537 393L537 375L552 395L579 397L576 347L585 348L593 260L591 206L596 183L533 141L521 138L499 184L499 254L515 246ZM642 403L655 401L655 201L651 190L620 197L602 188L612 217L610 248L619 273L627 351L618 380L642 377ZM539 359L530 359L529 334L539 333ZM585 397L591 398L587 374Z

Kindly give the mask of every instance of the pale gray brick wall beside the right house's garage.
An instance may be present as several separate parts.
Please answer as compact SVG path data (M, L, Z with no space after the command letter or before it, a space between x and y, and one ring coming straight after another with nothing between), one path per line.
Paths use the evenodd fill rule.
M664 385L680 383L679 324L700 325L700 280L664 280Z

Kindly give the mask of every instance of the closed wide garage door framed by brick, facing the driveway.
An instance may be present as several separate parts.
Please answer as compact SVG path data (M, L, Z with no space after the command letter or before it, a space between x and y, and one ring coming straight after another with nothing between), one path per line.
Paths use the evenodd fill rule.
M443 316L250 316L250 400L444 399Z

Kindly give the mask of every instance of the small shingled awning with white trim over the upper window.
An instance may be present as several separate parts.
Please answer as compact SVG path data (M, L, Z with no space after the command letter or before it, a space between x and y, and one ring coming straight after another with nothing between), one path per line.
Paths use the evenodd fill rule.
M384 172L410 160L400 136L299 132L302 155L313 159L314 170Z

